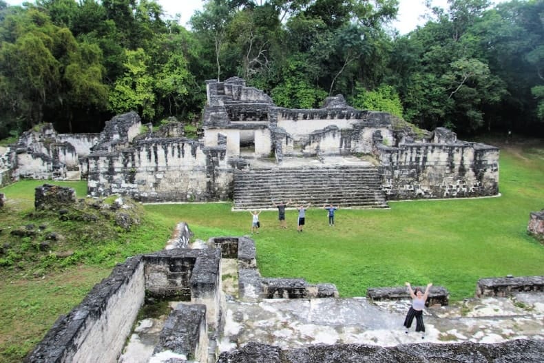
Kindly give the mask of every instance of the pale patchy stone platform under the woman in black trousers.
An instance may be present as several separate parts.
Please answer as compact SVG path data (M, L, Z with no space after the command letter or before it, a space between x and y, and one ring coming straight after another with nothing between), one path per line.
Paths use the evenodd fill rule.
M544 344L544 293L466 300L426 309L426 333L405 333L410 301L370 302L366 298L227 302L221 351L261 342L282 349L315 344L397 346L418 343L499 343L531 338Z

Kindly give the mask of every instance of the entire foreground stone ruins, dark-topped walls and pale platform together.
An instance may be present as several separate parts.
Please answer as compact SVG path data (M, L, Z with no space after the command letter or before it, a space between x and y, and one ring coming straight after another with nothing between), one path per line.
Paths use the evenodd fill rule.
M410 341L404 329L398 328L402 315L385 313L375 305L384 300L404 301L404 313L409 304L406 289L368 289L367 298L341 299L333 284L262 277L254 241L247 236L210 238L200 244L189 243L190 238L189 227L180 223L167 249L117 265L81 304L55 322L25 362L423 363L433 357L436 362L536 363L544 355L542 324L538 325L543 311L538 303L534 307L540 312L531 308L527 314L518 309L511 317L491 322L461 323L468 326L462 333L472 331L472 338L461 331L456 337L455 329L446 328L433 342L413 344L421 340L418 335L419 341ZM223 286L222 265L227 262L238 281L230 293ZM483 279L478 289L483 296L532 293L538 300L544 293L544 276ZM443 287L432 287L427 303L440 309L448 305L448 295ZM154 328L156 332L144 335L146 326L153 328L155 323L136 324L136 318L150 299L172 304L167 318ZM472 304L476 310L482 308L479 301ZM464 309L465 314L470 311L468 306ZM500 304L494 307L499 315L505 314L502 309ZM455 326L462 318L440 320L441 326ZM498 335L507 320L519 336L513 336L512 329L504 329L505 338ZM427 318L426 324L431 333L432 320ZM486 326L494 331L483 333ZM371 332L380 341L361 344ZM498 342L477 342L490 342L489 338ZM324 339L332 340L324 344ZM459 339L463 344L458 344Z

